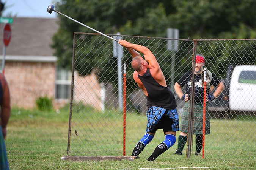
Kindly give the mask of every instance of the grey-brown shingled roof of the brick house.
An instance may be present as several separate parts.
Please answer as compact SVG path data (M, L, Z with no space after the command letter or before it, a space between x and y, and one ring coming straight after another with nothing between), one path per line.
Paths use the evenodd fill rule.
M14 17L10 24L11 41L6 47L6 56L53 56L50 44L58 30L57 21L53 18ZM0 23L0 55L3 54L3 27L4 24Z

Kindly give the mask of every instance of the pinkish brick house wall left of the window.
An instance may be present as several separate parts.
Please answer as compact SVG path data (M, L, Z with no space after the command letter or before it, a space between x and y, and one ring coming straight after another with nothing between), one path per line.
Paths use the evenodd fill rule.
M11 105L35 107L35 100L55 94L55 63L6 62L5 77L11 94Z

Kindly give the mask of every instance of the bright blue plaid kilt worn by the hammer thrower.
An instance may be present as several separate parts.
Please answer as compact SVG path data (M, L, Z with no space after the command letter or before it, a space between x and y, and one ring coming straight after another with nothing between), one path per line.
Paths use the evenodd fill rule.
M165 114L165 116L169 117L170 119L173 119L173 124L171 125L172 130L179 131L179 116L176 108L172 110L166 110L161 107L152 106L147 111L148 123L146 132L150 132L154 129L155 125L158 124L163 114Z

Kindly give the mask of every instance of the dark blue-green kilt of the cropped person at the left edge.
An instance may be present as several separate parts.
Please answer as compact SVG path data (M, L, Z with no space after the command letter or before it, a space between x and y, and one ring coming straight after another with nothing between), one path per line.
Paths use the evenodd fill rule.
M3 139L2 127L0 126L0 170L9 170L5 141Z

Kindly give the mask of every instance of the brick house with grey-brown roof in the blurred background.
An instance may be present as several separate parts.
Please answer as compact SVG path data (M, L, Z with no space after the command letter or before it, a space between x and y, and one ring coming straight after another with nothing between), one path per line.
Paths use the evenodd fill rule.
M70 99L55 99L57 57L53 56L54 50L50 48L50 44L52 36L58 30L57 22L58 19L52 18L13 18L13 23L10 24L11 41L6 47L4 72L10 88L12 107L35 108L35 100L45 95L54 99L55 109L70 102ZM1 38L3 26L4 24L1 23ZM3 40L0 40L2 68L1 54L3 54ZM75 101L81 100L88 105L93 105L97 110L104 109L105 99L101 94L104 95L105 92L97 82L95 74L77 77L77 81L79 82L75 83L82 86L77 89L82 96L74 97Z

